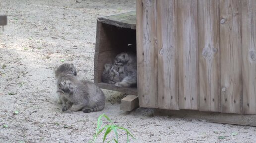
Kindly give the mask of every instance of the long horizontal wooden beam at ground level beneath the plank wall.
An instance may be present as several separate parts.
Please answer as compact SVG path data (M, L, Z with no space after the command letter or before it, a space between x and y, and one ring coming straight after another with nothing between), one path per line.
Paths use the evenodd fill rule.
M256 115L199 112L194 110L154 110L155 116L203 119L209 122L256 126Z

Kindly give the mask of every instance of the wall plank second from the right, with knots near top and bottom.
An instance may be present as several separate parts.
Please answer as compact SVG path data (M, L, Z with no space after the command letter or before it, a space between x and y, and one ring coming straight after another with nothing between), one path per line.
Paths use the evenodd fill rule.
M220 0L221 112L241 113L241 0Z

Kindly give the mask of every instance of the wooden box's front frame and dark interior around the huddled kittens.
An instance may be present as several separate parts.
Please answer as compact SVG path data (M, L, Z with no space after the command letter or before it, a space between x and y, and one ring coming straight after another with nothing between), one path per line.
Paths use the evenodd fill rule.
M134 12L133 12L134 13ZM111 16L110 16L111 17ZM134 20L136 22L136 19ZM114 63L114 58L122 51L136 51L128 44L136 45L136 30L120 28L97 20L96 45L94 54L94 83L100 88L137 95L137 88L116 87L102 83L101 76L106 63Z

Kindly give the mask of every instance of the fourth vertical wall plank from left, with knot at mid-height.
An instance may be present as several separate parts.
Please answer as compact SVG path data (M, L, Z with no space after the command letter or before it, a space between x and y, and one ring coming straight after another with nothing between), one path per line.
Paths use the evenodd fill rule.
M198 0L199 110L219 111L219 0Z

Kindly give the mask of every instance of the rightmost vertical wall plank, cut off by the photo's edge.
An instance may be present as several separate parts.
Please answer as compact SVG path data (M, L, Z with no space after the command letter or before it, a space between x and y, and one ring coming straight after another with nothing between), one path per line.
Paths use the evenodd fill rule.
M256 0L242 0L243 113L256 114Z

